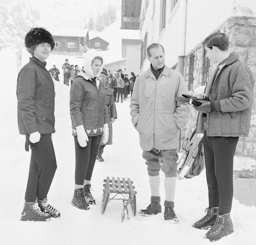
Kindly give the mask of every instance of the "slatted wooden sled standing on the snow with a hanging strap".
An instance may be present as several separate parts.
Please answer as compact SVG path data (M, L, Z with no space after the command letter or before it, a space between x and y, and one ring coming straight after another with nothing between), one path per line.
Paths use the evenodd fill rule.
M103 195L102 195L102 201L101 201L101 214L104 214L107 204L111 200L123 200L123 210L122 210L122 222L125 218L125 211L127 213L127 219L129 220L129 213L127 206L128 204L132 207L132 213L133 216L136 215L136 194L137 192L134 191L135 186L133 186L133 181L130 180L130 178L117 178L115 180L114 177L111 179L107 177L107 179L104 180L103 186L105 187L103 189ZM110 197L110 194L113 193L113 197ZM114 198L118 194L121 194L123 198Z

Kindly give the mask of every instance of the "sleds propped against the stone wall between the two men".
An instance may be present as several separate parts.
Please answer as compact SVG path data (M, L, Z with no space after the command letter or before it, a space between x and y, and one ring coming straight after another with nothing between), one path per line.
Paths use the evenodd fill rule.
M177 162L177 178L192 178L199 175L205 167L203 154L203 138L195 131L188 134L182 144L183 155Z

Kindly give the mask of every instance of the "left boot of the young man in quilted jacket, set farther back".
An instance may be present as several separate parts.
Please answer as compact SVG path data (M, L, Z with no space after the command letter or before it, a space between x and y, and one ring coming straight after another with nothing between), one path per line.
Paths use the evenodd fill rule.
M198 229L206 230L209 227L213 226L216 222L216 218L218 215L218 207L214 208L206 208L205 212L207 213L203 218L198 220L193 224L193 227Z

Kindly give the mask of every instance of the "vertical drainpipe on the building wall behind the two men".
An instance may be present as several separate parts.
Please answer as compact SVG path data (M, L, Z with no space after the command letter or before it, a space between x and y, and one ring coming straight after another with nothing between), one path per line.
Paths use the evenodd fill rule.
M187 0L180 0L180 16L179 16L179 37L178 37L178 66L177 70L183 76L184 58L186 44L186 19L187 19ZM181 150L181 130L179 136L179 146L177 151Z

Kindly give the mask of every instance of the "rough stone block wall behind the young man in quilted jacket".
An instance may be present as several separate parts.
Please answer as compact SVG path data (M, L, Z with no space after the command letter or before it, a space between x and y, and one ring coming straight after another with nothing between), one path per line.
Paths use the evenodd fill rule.
M235 177L256 177L256 18L230 17L217 30L224 32L229 37L229 51L240 55L241 60L251 69L254 75L254 97L251 117L250 134L240 137L234 157ZM210 34L210 33L209 33ZM184 79L188 85L190 56L185 57ZM211 74L210 68L210 74ZM194 50L194 83L193 91L202 85L203 75L203 46L199 45ZM191 92L193 94L194 92ZM181 145L186 134L196 127L197 111L191 109L189 120L181 130Z

